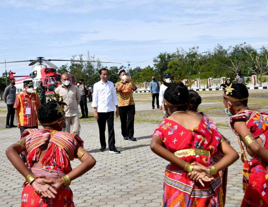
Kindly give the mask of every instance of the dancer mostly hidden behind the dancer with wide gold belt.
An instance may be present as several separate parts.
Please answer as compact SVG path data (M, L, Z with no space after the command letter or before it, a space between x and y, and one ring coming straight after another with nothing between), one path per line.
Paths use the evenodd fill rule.
M213 121L210 117L208 117L205 113L203 112L198 112L198 106L200 105L200 103L202 102L202 99L200 97L200 95L194 91L194 90L189 90L189 102L190 102L190 106L189 108L186 110L187 113L189 114L193 114L195 116L198 116L199 118L202 118L208 125L210 128L215 129L216 131L218 131L218 127L215 121ZM219 133L219 132L218 132ZM230 141L228 139L226 139L223 135L221 135L222 138L224 138L224 140L230 144ZM219 162L219 160L223 157L223 154L220 151L217 151L217 153L215 153L213 155L213 161L214 162ZM228 169L224 169L219 171L219 175L221 177L221 182L222 182L222 189L223 189L223 200L225 203L225 198L226 198L226 190L227 190L227 174L228 174Z

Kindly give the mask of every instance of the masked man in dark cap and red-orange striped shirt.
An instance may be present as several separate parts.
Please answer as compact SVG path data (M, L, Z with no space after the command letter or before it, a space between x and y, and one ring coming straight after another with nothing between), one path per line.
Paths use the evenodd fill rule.
M38 128L37 110L41 105L38 95L33 92L33 82L23 81L24 92L17 95L14 108L17 127L22 134L25 129Z

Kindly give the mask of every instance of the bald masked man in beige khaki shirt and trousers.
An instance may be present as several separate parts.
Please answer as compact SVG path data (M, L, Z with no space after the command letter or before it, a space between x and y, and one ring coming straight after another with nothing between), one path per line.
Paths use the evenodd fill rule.
M80 133L80 122L79 122L79 110L78 104L80 102L80 93L78 88L70 84L69 75L64 73L61 75L61 82L63 84L59 85L55 89L55 93L59 94L63 101L67 104L64 106L65 121L66 121L66 132L70 133L70 128L72 126L73 133Z

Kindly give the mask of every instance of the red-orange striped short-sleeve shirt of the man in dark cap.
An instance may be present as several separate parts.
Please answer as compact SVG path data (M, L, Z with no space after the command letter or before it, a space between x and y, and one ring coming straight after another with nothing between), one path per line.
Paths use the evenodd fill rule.
M24 91L17 95L14 108L19 110L21 126L37 126L37 109L41 105L38 95L31 93L30 96ZM27 110L30 108L30 110Z

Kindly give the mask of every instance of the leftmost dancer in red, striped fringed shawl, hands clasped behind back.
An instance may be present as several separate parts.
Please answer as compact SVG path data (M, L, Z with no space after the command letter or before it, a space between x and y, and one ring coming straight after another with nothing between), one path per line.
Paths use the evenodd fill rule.
M21 206L74 207L70 182L90 170L96 160L83 149L83 140L65 128L64 103L50 101L38 109L44 129L27 129L6 150L13 166L25 177ZM27 166L20 157L25 153ZM74 170L70 161L82 162Z

